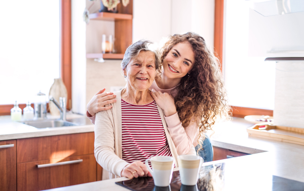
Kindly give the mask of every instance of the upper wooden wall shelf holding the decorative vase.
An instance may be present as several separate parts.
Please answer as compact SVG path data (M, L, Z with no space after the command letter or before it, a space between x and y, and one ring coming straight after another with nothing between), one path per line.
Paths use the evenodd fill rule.
M104 21L116 21L116 20L132 20L131 14L121 14L121 13L92 13L89 18L91 20L104 20Z

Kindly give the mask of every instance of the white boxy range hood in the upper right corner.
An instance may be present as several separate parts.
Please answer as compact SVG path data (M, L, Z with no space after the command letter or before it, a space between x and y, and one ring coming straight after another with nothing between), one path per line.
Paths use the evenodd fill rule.
M249 56L304 57L304 12L264 17L249 10Z

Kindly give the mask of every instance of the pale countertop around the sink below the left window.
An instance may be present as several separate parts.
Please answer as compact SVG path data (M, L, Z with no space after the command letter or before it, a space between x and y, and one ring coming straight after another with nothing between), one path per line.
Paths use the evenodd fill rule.
M67 114L67 119L86 118L78 114ZM48 119L59 119L58 116L48 116ZM94 125L67 126L53 128L35 128L19 122L12 122L10 116L0 116L0 140L52 136L60 134L73 134L94 132Z

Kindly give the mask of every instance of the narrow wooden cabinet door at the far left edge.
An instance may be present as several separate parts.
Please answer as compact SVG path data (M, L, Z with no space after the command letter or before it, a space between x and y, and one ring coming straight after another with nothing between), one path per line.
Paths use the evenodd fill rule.
M16 191L16 140L0 141L0 190Z

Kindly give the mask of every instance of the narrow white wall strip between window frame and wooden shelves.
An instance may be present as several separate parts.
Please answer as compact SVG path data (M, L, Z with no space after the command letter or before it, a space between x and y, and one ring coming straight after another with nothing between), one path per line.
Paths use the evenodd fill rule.
M86 23L82 15L85 1L71 1L72 111L86 112Z

